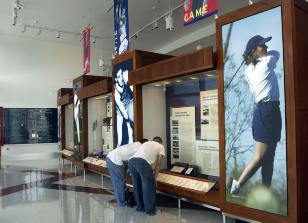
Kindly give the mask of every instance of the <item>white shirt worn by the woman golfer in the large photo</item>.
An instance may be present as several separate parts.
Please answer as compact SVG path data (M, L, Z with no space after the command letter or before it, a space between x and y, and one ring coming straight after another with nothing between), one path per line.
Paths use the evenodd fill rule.
M266 57L258 59L256 66L249 64L245 70L246 80L257 103L279 101L279 86L274 72L278 60L279 52L271 50Z

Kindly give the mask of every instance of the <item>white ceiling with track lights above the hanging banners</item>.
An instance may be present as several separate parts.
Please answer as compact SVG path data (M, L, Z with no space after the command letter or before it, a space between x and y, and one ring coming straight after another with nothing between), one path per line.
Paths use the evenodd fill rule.
M168 0L128 0L128 2L130 36L169 11ZM113 0L19 0L19 3L24 5L25 8L17 11L17 23L13 26L12 0L0 0L0 35L79 45L82 47L83 41L79 41L82 36L77 36L74 39L72 34L61 33L61 31L82 34L84 28L90 23L91 27L94 26L90 32L91 36L101 37L96 38L96 43L91 44L91 47L100 48L100 41L102 41L103 50L113 51L114 49ZM177 8L182 3L183 0L170 0L170 9ZM218 15L223 15L247 4L248 0L218 0ZM153 7L156 7L156 9L153 9ZM110 8L111 10L109 10ZM140 32L140 36L137 39L133 37L130 49L155 52L175 40L215 22L214 15L212 15L184 27L182 7L173 11L173 18L173 31L165 30L164 18L161 18L158 20L158 28L153 30L145 28ZM37 23L34 21L37 21ZM21 25L59 30L61 35L60 38L56 38L56 32L48 30L42 30L41 34L37 35L37 29L30 27L27 27L26 31L22 33ZM184 44L180 49L173 50L172 55L195 50L195 46L198 44L194 41L188 41L187 45ZM215 36L203 38L201 42L203 47L205 42L208 42L205 45L215 44Z

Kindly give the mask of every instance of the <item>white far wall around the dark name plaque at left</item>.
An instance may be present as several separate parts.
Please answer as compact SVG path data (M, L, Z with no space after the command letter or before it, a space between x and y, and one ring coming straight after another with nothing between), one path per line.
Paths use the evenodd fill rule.
M111 51L103 50L103 58ZM102 75L100 49L91 48L87 75ZM68 78L83 73L83 47L0 35L0 106L4 108L56 108L57 93L72 87ZM9 148L8 150L4 150ZM2 155L57 152L57 144L5 145Z

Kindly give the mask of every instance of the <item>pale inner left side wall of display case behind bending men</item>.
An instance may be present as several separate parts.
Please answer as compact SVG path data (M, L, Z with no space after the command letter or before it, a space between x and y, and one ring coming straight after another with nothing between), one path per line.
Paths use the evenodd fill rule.
M163 87L142 86L143 107L143 137L152 141L155 136L162 139L165 157L161 169L167 168L167 139L166 139L166 102ZM155 112L154 112L155 111ZM155 164L153 164L153 168Z

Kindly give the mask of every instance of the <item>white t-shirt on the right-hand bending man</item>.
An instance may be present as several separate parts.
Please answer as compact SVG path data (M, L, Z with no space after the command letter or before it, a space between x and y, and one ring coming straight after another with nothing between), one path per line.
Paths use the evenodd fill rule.
M154 141L149 141L144 143L138 151L132 155L131 158L138 157L145 159L150 165L152 165L156 160L157 156L161 154L165 156L165 148Z

